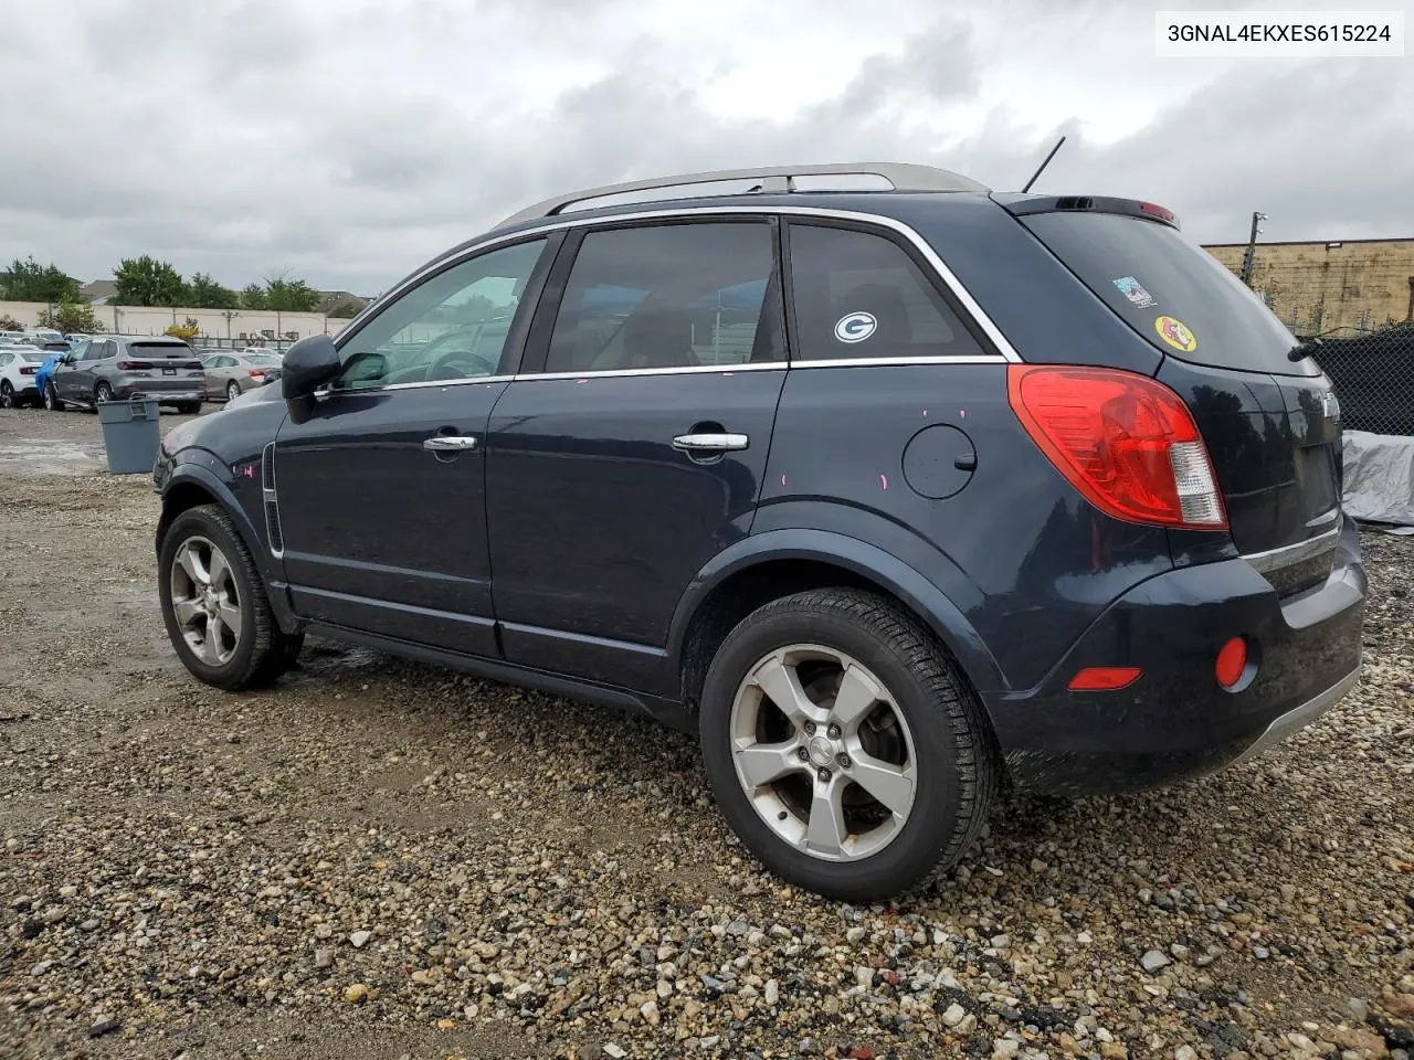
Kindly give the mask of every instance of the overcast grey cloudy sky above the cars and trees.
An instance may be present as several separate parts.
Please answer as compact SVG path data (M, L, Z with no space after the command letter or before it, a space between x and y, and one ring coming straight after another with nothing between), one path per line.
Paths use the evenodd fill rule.
M1404 10L1411 0L1188 7ZM1155 58L1120 0L0 0L0 260L373 294L526 202L899 160L1205 242L1414 236L1414 57Z

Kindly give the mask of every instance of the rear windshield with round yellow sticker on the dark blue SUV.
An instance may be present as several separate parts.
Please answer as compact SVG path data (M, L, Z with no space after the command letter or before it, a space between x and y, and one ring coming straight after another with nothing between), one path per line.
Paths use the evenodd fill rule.
M1021 218L1066 267L1159 352L1210 367L1314 375L1295 336L1212 254L1168 225L1117 213Z

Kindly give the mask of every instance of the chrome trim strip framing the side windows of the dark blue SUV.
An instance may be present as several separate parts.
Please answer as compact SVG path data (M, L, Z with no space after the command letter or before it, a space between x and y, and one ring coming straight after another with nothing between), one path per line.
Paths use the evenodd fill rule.
M426 280L428 276L433 276L434 273L440 273L440 271L443 271L445 269L454 269L454 267L460 266L462 261L467 261L468 259L475 257L477 254L482 254L482 253L485 253L488 250L495 250L498 246L502 246L502 245L506 245L506 243L515 243L515 242L519 242L519 240L534 239L537 236L543 236L543 235L547 235L550 232L556 232L556 230L560 230L560 229L595 228L595 226L612 228L612 226L617 226L617 225L636 223L636 222L645 222L645 220L691 220L694 218L723 218L723 216L725 216L725 218L730 218L730 216L764 216L764 218L779 216L779 218L803 218L803 219L807 219L807 220L809 219L819 219L819 220L853 220L853 222L857 222L857 223L861 223L861 225L872 225L875 228L889 229L891 232L895 232L896 235L899 235L904 239L906 239L913 246L913 249L918 250L919 254L922 254L923 260L928 261L929 267L937 274L937 277L943 281L943 284L947 287L947 290L952 291L953 297L957 298L957 302L962 305L962 308L971 317L971 319L977 324L977 326L981 328L983 334L1000 351L995 356L990 355L990 353L980 353L980 355L963 355L963 356L956 356L956 358L947 358L947 356L937 356L937 358L878 358L875 360L867 360L867 359L863 359L863 358L848 358L848 359L841 359L841 360L799 360L797 359L797 360L793 360L793 362L769 362L769 363L762 363L762 365L752 366L752 367L773 367L773 366L789 366L792 369L796 369L796 367L830 367L830 366L843 367L843 366L846 366L846 363L844 363L846 360L850 362L848 363L850 367L863 367L865 363L867 365L872 365L872 366L899 365L899 363L902 363L902 365L1001 365L1001 363L1007 363L1007 362L1021 363L1021 356L1017 353L1015 348L1012 348L1011 342L1007 341L1007 336L1001 334L1001 329L997 326L997 324L991 319L991 317L987 315L987 312L981 308L981 305L977 304L977 300L971 297L971 293L963 285L963 283L957 278L957 276L953 273L953 270L947 267L947 263L943 261L943 259L937 254L937 252L933 250L932 246L929 246L928 240L923 239L911 225L905 225L902 220L898 220L896 218L888 218L888 216L884 216L881 213L864 213L861 211L853 211L853 209L830 209L827 206L790 206L790 205L779 205L779 206L751 206L751 205L741 205L741 206L679 206L676 209L652 209L652 211L636 211L633 213L617 213L617 215L608 216L608 218L604 218L604 216L594 216L594 218L553 216L553 218L547 218L543 225L533 225L530 228L519 229L518 232L510 232L510 233L501 235L501 236L488 236L485 240L482 240L479 243L475 243L475 245L468 246L468 247L462 247L461 250L458 250L452 256L437 259L436 261L433 261L427 267L424 267L420 271L414 273L413 276L407 277L407 280L404 280L403 283L400 283L397 287L395 287L393 290L390 290L383 297L378 298L375 302L369 302L365 307L363 312L368 312L369 314L369 319L372 319L376 314L369 312L370 310L378 308L379 311L382 311L385 307L390 305L397 298L400 298L404 291L411 290L413 287L416 287L417 284L420 284L423 280ZM334 336L334 343L335 343L335 346L339 351L342 351L345 342L351 341L352 335L356 334L355 325L362 326L361 325L361 317L362 315L363 314L359 314L359 317L355 317L352 321L348 322L348 325L345 328L342 328L339 331L338 335ZM345 339L345 335L348 335L349 339ZM341 339L345 339L345 342L341 342ZM622 369L622 370L614 370L614 372L588 372L588 373L585 373L585 372L571 372L571 373L559 373L559 372L557 373L534 373L534 372L530 372L530 373L519 373L516 376L488 376L488 377L484 377L484 379L474 379L474 380L472 379L468 379L468 380L458 379L458 380L441 380L441 382L437 382L437 383L393 383L393 384L385 386L385 387L366 387L366 389L356 390L356 391L355 390L339 390L339 391L329 391L329 393L341 393L341 394L342 393L380 393L383 390L393 390L393 389L411 389L411 387L420 387L420 386L454 386L454 384L460 384L460 383L472 383L472 382L501 382L503 379L515 379L515 380L523 380L523 379L580 379L581 376L672 375L672 373L693 373L693 372L701 372L701 370L704 370L703 366L690 365L690 366L684 366L684 367ZM711 366L710 369L706 369L706 370L721 370L721 367L714 365L714 366ZM747 366L745 365L738 365L738 366L731 367L730 370L732 370L732 372L747 370Z

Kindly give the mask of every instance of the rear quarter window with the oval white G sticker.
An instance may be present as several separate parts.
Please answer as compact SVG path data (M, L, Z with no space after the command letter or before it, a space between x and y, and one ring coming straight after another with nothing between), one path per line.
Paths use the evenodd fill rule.
M892 239L823 225L792 223L789 233L797 360L984 352Z

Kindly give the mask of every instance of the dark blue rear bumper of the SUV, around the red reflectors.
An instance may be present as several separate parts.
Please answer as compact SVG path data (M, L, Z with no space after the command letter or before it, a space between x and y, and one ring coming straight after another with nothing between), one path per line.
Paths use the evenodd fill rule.
M1035 688L986 695L1019 787L1056 794L1155 787L1247 760L1315 721L1360 673L1365 567L1353 522L1324 584L1282 599L1246 560L1169 571L1110 605ZM1219 647L1249 640L1236 691ZM1143 676L1107 693L1066 687L1089 666Z

